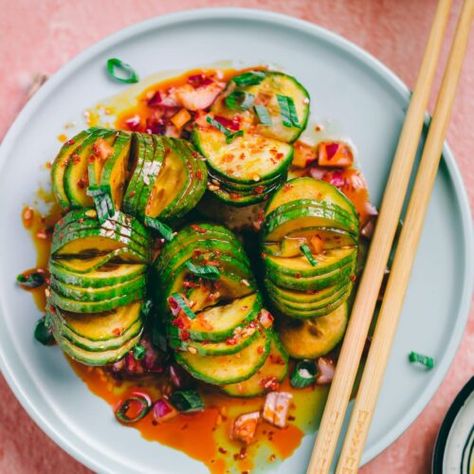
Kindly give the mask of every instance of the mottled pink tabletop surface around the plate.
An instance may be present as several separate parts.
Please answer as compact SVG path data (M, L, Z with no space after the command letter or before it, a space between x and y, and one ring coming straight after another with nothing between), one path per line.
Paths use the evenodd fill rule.
M454 0L456 13L460 1ZM413 86L434 0L0 0L0 139L25 102L32 76L51 74L106 35L176 10L241 6L273 10L335 31L380 59ZM453 15L454 17L454 15ZM453 31L452 19L450 32ZM444 50L446 58L447 48ZM474 34L467 52L448 140L474 204ZM438 78L439 79L439 78ZM416 422L365 466L363 474L429 471L442 418L474 373L474 312L437 394ZM29 419L0 376L0 473L86 473Z

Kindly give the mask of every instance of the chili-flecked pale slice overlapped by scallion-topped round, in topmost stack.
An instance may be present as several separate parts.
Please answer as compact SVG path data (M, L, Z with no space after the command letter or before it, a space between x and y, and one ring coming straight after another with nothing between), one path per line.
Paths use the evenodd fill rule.
M225 135L209 124L198 125L193 140L212 173L229 182L254 184L282 176L293 158L287 143L250 133L226 143Z

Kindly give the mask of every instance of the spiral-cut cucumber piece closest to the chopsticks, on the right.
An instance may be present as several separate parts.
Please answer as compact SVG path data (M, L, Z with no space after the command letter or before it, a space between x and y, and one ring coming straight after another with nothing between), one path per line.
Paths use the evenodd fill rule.
M291 356L318 357L342 338L358 240L352 203L329 183L296 178L269 201L262 227L264 284Z

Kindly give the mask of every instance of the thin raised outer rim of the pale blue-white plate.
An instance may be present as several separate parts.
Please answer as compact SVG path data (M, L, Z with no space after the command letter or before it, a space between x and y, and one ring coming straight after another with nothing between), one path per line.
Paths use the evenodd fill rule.
M106 50L114 44L131 38L135 35L143 34L147 31L189 21L203 21L218 18L231 18L233 20L240 21L261 21L308 33L311 36L315 36L320 40L324 40L333 46L336 46L338 49L344 51L354 59L361 62L365 67L368 67L373 73L378 74L385 82L389 83L393 89L400 94L403 100L408 100L409 98L410 90L407 85L392 70L380 62L372 54L368 53L350 40L314 23L281 13L249 8L198 8L186 11L178 11L155 16L122 28L87 47L70 59L65 65L63 65L26 103L21 112L15 118L11 127L8 129L0 145L0 169L5 165L11 144L13 143L14 139L16 139L18 132L24 126L28 116L34 113L36 108L41 105L41 103L48 97L50 93L54 92L57 85L66 79L70 73L78 69L83 63L87 62L89 59L94 58L96 55L100 54L100 52ZM381 437L373 444L370 449L364 452L361 466L372 460L384 449L390 446L397 438L401 436L404 431L406 431L406 429L424 410L428 402L431 400L441 385L441 382L445 378L446 373L453 362L469 317L469 308L471 304L470 295L472 294L474 286L474 269L470 271L470 269L473 268L474 251L473 229L472 226L468 224L471 222L470 205L461 173L446 142L443 148L443 158L447 166L449 177L453 182L455 194L459 203L463 231L462 238L466 245L464 275L462 276L464 287L458 310L458 324L451 334L441 364L437 366L436 373L432 376L430 382L425 386L422 394L418 397L417 403L412 405L411 409L405 414L405 417L402 419L402 421L394 425L394 427L386 432L385 436ZM4 322L3 310L0 314L0 322ZM76 446L76 443L71 442L70 439L66 439L63 435L61 435L55 429L54 424L50 423L50 421L48 421L48 419L41 414L38 407L35 406L36 403L29 399L27 392L23 389L21 383L19 383L13 368L10 367L8 363L8 357L6 356L6 353L4 353L4 348L2 346L0 346L0 370L5 377L10 389L14 393L15 398L20 402L22 407L33 419L33 421L41 428L41 430L46 433L58 446L73 456L76 460L91 469L100 470L101 472L109 471L99 459L96 459L95 456L90 456L87 450L84 452L84 450Z

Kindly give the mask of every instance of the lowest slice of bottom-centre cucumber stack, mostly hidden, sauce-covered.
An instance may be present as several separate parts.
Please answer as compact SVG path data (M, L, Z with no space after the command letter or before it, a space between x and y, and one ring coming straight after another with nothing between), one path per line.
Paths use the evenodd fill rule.
M277 334L272 332L271 339L270 352L262 367L243 382L222 386L225 393L233 397L257 397L267 391L267 383L283 381L288 372L288 354Z

